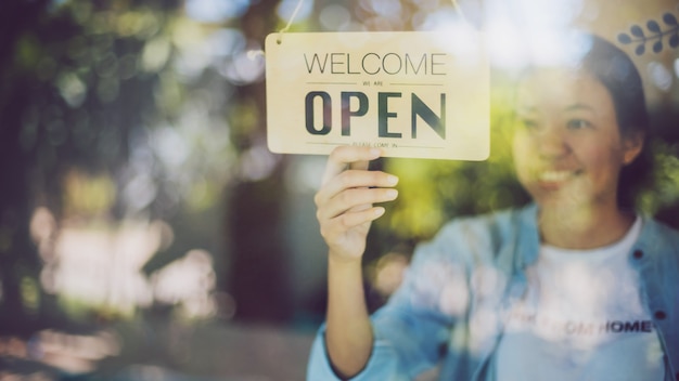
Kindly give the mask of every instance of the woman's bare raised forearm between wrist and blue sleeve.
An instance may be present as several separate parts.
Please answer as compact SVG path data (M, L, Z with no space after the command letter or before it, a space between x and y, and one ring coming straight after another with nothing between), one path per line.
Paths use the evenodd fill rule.
M355 376L370 358L373 333L360 260L337 261L329 255L325 342L341 376Z

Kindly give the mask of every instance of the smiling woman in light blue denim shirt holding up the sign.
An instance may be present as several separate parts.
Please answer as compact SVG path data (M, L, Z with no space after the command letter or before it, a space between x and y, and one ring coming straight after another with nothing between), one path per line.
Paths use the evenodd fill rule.
M377 150L331 154L316 196L328 317L309 380L433 367L440 380L679 380L679 233L626 208L648 124L641 79L623 51L588 40L573 65L520 82L514 162L534 202L448 223L372 317L361 255L398 179L367 170Z

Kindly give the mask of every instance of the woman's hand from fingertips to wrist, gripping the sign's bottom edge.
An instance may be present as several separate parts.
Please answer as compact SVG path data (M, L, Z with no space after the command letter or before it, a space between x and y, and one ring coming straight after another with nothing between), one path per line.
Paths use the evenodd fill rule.
M317 218L331 260L360 260L372 221L384 214L375 202L396 199L398 178L369 171L380 149L342 146L328 159L321 188L316 194Z

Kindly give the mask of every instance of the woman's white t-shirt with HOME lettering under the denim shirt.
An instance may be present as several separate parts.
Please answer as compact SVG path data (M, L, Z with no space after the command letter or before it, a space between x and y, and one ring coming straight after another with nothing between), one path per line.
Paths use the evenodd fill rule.
M526 294L504 312L497 381L663 380L661 343L627 253L641 231L594 250L541 246Z

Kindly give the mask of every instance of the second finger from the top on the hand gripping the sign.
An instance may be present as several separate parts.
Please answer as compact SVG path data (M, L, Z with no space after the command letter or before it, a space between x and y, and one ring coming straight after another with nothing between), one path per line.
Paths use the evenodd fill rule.
M330 180L316 195L316 203L321 207L345 189L357 187L392 187L398 178L382 171L348 170Z

